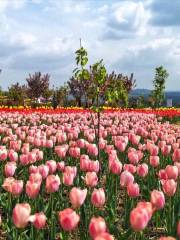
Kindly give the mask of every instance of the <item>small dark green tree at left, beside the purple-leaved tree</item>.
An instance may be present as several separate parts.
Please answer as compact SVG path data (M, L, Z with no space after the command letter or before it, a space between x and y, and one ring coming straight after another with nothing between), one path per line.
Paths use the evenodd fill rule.
M20 85L18 82L16 84L12 84L8 88L8 97L14 101L14 104L24 104L24 99L26 97L25 85Z

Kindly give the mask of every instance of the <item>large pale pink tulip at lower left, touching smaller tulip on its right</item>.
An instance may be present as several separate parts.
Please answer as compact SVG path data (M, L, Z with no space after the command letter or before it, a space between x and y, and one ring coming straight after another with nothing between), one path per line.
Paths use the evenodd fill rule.
M28 203L18 203L13 209L13 223L17 228L24 228L28 224L31 207Z

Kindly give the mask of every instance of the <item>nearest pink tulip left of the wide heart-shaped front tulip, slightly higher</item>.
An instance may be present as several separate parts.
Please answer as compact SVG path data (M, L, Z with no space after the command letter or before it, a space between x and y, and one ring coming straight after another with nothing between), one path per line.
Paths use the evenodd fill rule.
M57 192L60 186L60 178L58 175L49 175L46 178L46 191L48 193Z

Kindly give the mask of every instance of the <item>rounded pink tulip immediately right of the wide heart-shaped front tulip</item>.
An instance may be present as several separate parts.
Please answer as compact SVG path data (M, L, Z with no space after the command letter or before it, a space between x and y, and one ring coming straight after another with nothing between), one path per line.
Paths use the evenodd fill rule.
M105 204L105 192L103 188L94 189L91 195L91 202L95 207L103 207Z

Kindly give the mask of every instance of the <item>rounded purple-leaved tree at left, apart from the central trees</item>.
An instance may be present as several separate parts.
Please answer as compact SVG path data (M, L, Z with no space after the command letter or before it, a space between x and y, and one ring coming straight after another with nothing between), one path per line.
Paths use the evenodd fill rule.
M27 95L32 99L37 99L43 96L49 89L49 74L42 75L41 72L35 72L35 74L29 74L29 78L26 79Z

